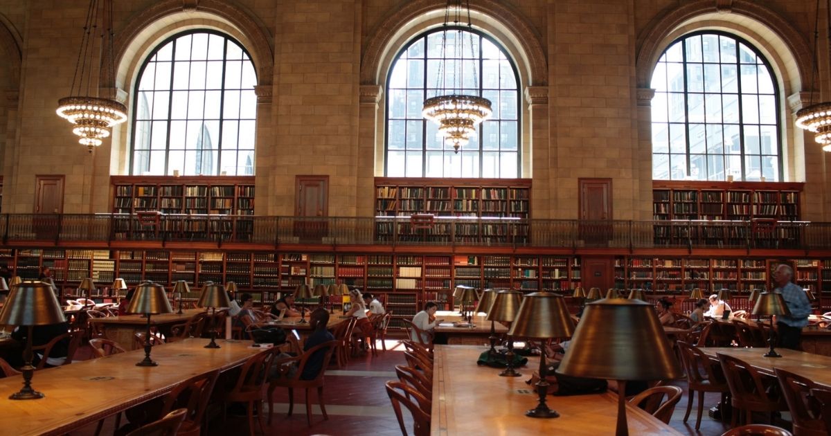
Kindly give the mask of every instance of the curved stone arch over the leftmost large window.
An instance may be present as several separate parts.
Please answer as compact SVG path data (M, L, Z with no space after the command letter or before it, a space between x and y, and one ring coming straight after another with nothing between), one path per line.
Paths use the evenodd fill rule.
M265 27L248 12L221 0L164 0L130 17L116 36L116 77L105 86L130 83L130 71L140 65L148 47L175 32L194 27L220 30L238 39L251 54L259 86L273 81L274 56ZM135 59L138 56L140 59Z

